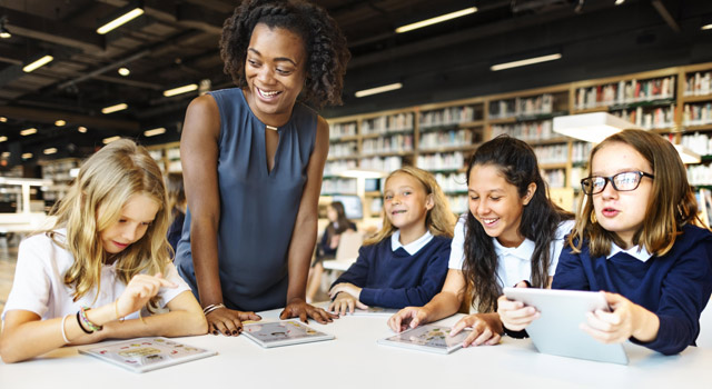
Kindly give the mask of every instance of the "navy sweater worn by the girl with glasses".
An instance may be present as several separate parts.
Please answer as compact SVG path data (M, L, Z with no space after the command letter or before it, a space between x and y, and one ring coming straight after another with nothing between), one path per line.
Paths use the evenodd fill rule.
M587 242L581 253L564 248L553 289L605 290L619 293L660 318L657 338L632 342L664 355L684 350L700 335L700 315L712 293L712 233L684 226L672 249L642 262L619 252L591 258Z

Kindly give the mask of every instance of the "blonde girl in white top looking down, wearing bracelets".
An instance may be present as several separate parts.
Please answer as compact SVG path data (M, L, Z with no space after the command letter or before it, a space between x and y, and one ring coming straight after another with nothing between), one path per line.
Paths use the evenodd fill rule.
M166 188L146 149L118 140L89 158L55 226L20 243L0 355L65 345L205 333L200 306L168 256ZM139 310L167 312L139 318Z

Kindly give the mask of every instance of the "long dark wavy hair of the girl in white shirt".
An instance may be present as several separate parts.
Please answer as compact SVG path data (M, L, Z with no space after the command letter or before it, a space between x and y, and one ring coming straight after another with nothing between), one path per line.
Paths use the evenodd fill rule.
M525 142L504 134L482 144L469 159L467 186L469 186L472 169L487 164L498 168L504 179L517 188L520 197L526 194L530 183L536 184L534 196L522 211L520 233L534 241L531 283L534 287L544 288L548 280L548 265L552 260L551 242L555 238L558 225L563 220L573 219L573 213L566 212L548 199L536 154ZM468 290L473 292L473 305L476 301L481 312L494 311L497 298L502 295L502 288L496 279L498 263L494 242L472 212L467 213L466 223L463 266L465 280Z

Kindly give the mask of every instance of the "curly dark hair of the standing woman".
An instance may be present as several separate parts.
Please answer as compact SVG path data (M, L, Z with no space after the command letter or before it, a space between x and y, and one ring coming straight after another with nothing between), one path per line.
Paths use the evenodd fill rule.
M225 20L220 58L225 73L245 88L247 48L257 23L283 28L301 37L307 51L306 84L301 99L316 108L340 104L344 73L350 53L346 38L326 11L301 0L244 0Z

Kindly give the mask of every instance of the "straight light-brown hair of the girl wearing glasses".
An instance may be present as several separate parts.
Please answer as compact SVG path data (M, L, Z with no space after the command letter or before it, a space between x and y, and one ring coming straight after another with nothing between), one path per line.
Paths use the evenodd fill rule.
M624 130L612 134L591 150L589 169L593 157L601 149L612 143L632 147L650 163L653 169L653 187L645 209L645 219L641 229L633 236L633 245L644 246L655 255L663 256L675 243L682 226L694 223L698 219L698 202L688 183L685 167L675 148L662 137L642 130ZM580 201L576 226L568 236L567 245L574 252L581 252L584 240L587 240L591 257L601 257L611 252L611 243L625 246L611 231L595 222L595 210L591 194L583 194Z

